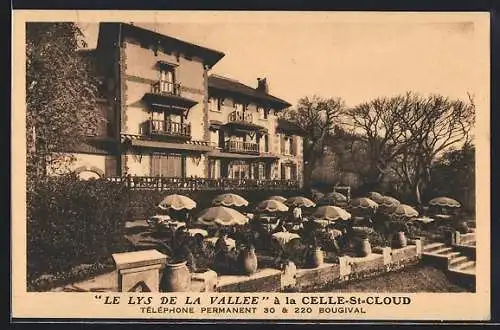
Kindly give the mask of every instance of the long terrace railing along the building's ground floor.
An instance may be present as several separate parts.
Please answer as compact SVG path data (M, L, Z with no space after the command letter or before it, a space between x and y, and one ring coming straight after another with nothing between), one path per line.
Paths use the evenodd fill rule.
M194 190L224 190L250 191L299 190L299 183L295 180L257 180L257 179L204 179L204 178L167 178L167 177L108 177L108 181L123 184L131 190L158 190L158 191L194 191Z

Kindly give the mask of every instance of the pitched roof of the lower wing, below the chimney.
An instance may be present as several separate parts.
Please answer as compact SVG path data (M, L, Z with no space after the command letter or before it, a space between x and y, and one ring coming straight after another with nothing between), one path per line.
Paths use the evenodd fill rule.
M271 94L264 93L262 91L259 91L255 88L252 88L250 86L247 86L245 84L240 83L239 81L222 77L219 75L210 75L208 77L208 88L209 89L217 89L217 90L222 90L226 92L231 92L243 96L247 96L249 98L265 102L265 103L270 103L274 106L278 106L278 110L287 108L291 106L290 103L288 103L285 100L282 100L276 96L273 96Z

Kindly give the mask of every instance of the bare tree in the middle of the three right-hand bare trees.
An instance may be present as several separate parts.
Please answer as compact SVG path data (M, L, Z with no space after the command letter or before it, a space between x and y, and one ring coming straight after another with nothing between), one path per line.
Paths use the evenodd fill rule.
M358 162L366 190L376 190L407 147L400 118L408 109L411 94L377 98L355 106L347 112L348 127L357 136L351 152L363 156Z

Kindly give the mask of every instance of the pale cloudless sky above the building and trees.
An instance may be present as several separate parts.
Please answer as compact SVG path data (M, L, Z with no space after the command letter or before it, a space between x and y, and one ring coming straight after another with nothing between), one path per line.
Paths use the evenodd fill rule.
M478 28L466 16L338 17L197 23L155 17L134 24L224 52L212 73L254 87L258 77L266 77L270 93L293 105L314 94L341 97L350 106L406 91L466 99L467 92L476 94L488 83L478 70L484 55ZM95 47L98 24L80 26Z

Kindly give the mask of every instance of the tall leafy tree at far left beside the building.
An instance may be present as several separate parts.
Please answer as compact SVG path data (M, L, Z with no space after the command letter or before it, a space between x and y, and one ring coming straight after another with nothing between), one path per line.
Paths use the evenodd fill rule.
M74 23L26 24L27 172L43 177L103 120L92 63Z

